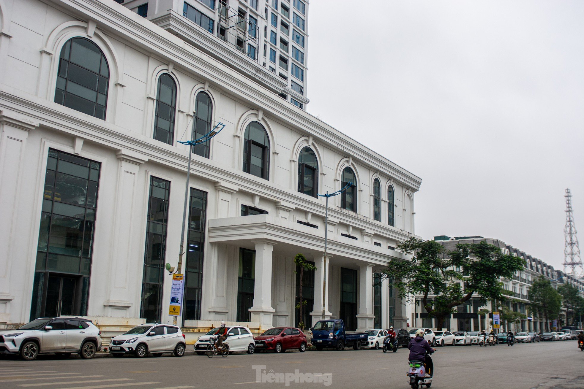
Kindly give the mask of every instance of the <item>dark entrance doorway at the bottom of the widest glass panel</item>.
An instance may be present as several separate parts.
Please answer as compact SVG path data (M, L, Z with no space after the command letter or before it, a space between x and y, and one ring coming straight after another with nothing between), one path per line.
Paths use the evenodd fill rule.
M44 315L58 317L75 315L77 279L71 277L48 276Z

